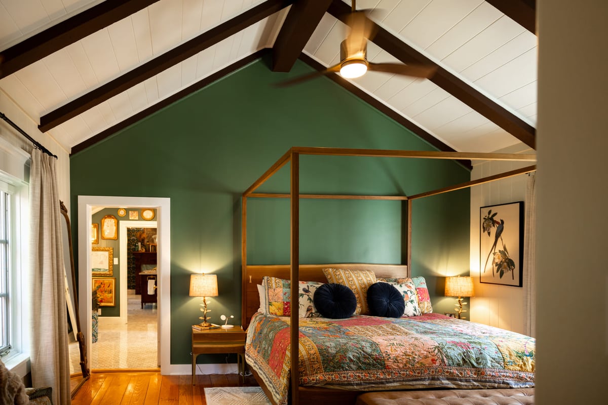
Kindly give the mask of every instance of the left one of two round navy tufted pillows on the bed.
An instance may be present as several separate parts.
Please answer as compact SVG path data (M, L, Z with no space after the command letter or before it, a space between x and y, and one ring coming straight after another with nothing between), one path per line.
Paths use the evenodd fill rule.
M357 309L357 299L353 291L342 284L321 285L314 291L313 302L323 318L350 318Z

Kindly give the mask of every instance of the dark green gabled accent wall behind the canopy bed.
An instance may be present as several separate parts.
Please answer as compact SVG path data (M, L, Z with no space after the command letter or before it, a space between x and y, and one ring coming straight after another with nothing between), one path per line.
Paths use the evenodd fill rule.
M73 207L79 195L171 199L171 364L191 361L190 325L200 315L200 300L188 296L191 273L218 275L219 296L208 299L212 322L223 313L240 319L241 194L289 148L435 150L326 78L273 86L310 71L297 61L291 73L273 73L255 61L71 157ZM300 163L305 193L412 195L470 177L447 160L302 156ZM289 191L288 174L286 165L260 191ZM469 200L465 190L412 203L412 274L427 277L438 312L452 310L440 291L446 271L468 274ZM402 204L302 200L300 262L405 263ZM249 263L288 263L288 201L249 199L247 212Z

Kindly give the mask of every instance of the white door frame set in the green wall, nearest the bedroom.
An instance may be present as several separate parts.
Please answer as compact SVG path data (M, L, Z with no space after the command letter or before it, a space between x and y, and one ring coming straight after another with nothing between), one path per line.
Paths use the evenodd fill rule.
M87 358L91 359L92 302L91 294L91 208L105 206L120 208L139 206L156 209L157 217L157 278L158 278L158 337L161 374L168 375L171 367L171 199L165 197L78 196L78 307L80 325L85 333ZM126 291L126 290L125 290Z

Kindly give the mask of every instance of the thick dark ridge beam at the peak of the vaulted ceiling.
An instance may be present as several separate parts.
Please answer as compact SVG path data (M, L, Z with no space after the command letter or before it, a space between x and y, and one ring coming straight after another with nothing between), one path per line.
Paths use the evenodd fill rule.
M272 47L272 71L289 72L330 7L331 0L295 1Z

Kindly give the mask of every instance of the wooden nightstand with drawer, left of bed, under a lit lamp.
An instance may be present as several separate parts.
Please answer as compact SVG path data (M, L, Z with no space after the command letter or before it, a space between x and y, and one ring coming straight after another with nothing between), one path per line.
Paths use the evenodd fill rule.
M241 376L245 372L245 340L247 333L240 326L230 329L192 329L192 385L196 378L196 357L215 353L237 353L237 368Z

